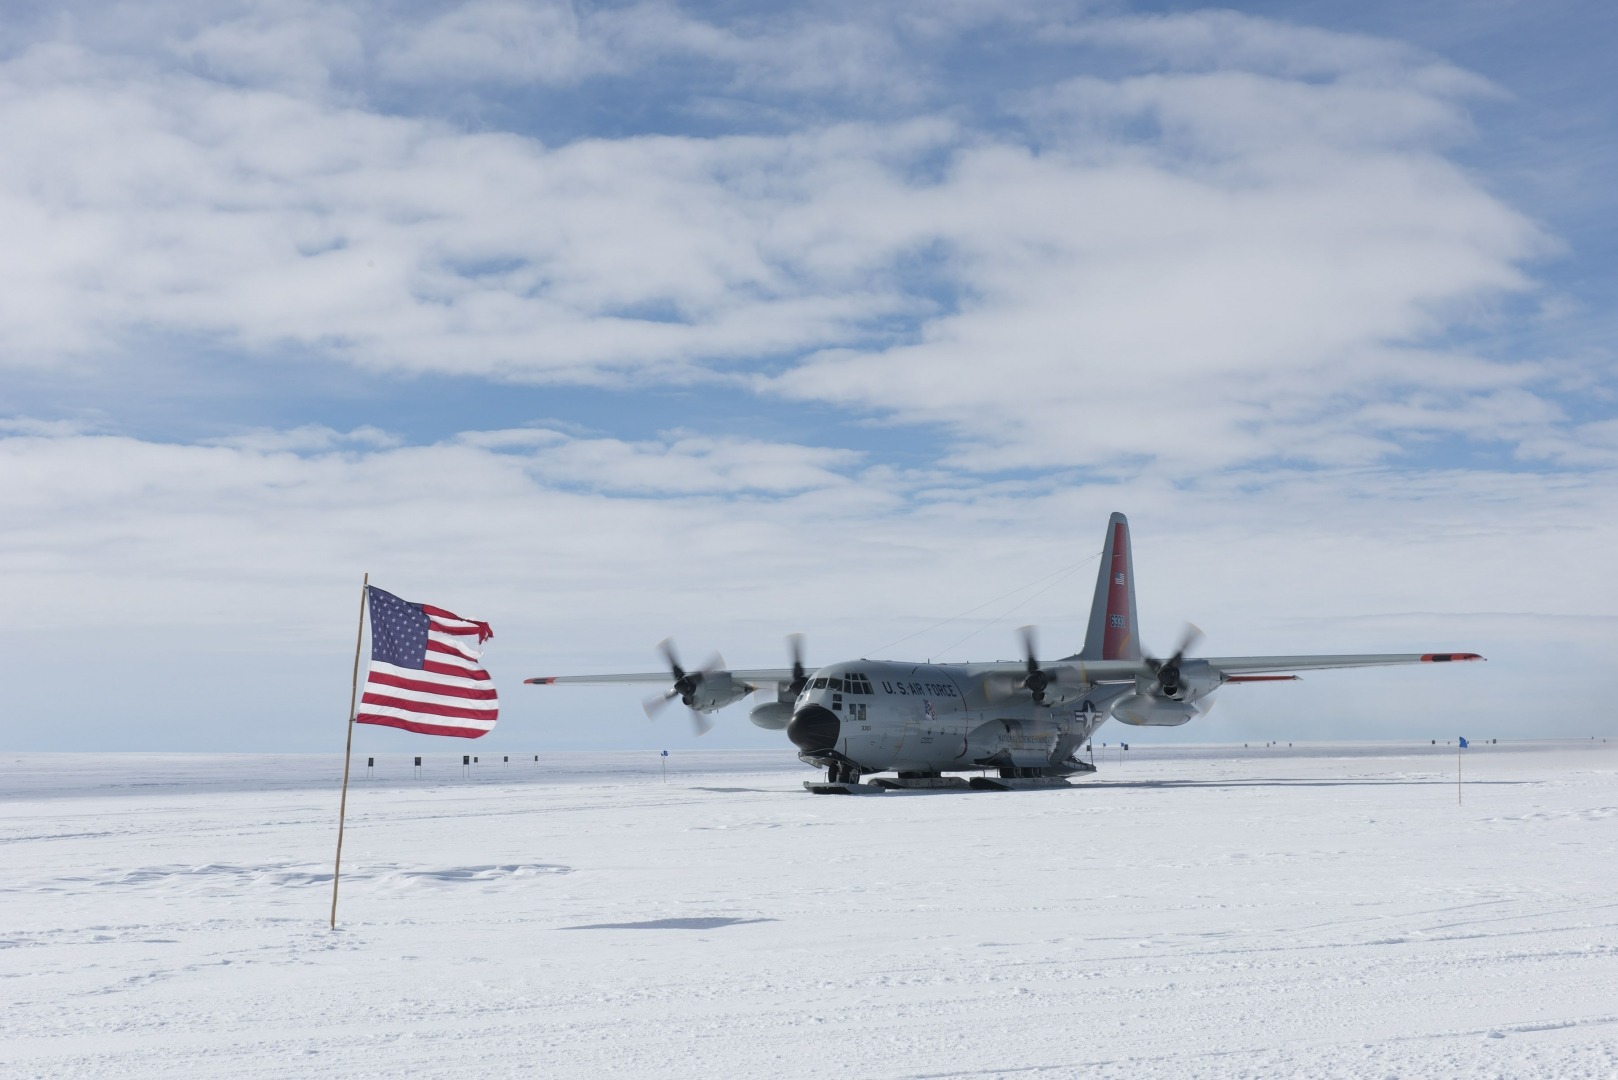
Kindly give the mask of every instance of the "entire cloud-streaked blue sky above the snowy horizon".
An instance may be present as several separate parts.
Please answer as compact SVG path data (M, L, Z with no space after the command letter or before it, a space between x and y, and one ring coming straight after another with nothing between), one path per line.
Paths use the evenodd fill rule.
M15 6L0 745L324 750L367 570L493 623L490 750L684 745L519 678L670 633L1066 651L1089 573L1023 586L1112 510L1149 641L1490 656L1178 737L1607 730L1568 672L1612 670L1618 602L1615 36L1595 3ZM1000 596L966 651L927 630Z

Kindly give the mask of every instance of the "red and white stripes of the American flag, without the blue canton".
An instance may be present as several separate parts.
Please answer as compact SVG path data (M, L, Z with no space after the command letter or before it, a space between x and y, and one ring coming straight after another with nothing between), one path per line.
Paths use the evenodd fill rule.
M461 619L430 604L421 609L432 620L426 665L416 670L371 661L366 695L359 699L354 721L422 735L487 735L500 716L495 683L477 665L489 623Z

